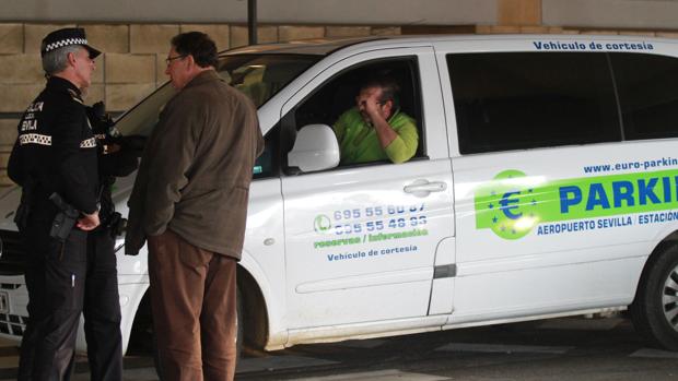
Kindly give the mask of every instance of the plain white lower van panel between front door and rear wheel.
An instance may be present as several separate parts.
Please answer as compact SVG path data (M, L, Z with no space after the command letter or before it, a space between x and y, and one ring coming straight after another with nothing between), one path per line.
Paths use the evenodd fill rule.
M459 276L449 323L627 306L645 258Z

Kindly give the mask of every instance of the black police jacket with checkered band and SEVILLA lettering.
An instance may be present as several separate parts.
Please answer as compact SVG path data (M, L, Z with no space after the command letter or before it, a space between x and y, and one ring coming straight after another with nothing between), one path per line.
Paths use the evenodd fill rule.
M87 122L80 90L52 76L19 122L19 135L8 175L25 187L34 184L31 218L51 219L57 213L52 192L83 213L97 209L96 141Z

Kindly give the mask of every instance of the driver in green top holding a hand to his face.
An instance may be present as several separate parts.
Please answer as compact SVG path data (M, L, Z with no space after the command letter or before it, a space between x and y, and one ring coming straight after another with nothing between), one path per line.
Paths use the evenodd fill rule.
M364 83L355 107L344 111L334 126L341 165L390 160L405 163L417 153L417 122L402 112L399 86L387 76Z

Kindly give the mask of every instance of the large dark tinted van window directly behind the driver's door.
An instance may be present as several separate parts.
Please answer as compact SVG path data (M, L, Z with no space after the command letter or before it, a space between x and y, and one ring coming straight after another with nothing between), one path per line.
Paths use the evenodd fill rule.
M463 154L621 140L605 53L447 55Z

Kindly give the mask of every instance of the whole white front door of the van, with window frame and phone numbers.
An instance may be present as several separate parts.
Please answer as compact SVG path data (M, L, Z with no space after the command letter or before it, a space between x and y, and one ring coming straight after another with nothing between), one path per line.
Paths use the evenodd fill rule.
M364 163L282 177L292 330L428 314L436 247L454 234L433 49L338 58L291 97L282 123L293 130L331 126L354 106L363 74L378 70L400 81L400 109L419 127L418 152L404 164Z

